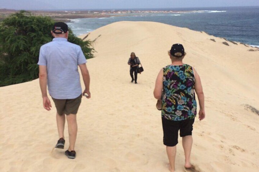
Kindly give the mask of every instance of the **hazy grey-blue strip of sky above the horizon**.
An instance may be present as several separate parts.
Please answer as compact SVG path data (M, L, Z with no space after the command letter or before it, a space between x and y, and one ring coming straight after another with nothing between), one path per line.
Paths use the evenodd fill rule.
M259 0L1 0L0 9L149 9L259 6Z

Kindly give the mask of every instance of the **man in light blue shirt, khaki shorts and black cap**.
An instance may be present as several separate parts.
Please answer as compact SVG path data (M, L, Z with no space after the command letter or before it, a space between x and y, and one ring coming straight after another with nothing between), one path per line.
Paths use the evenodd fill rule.
M53 40L40 48L39 82L42 92L43 107L51 110L49 94L57 108L57 128L59 140L56 148L64 149L64 125L67 118L69 148L65 152L68 158L75 158L75 141L77 135L76 114L82 95L91 97L89 92L90 76L86 67L86 58L79 45L67 41L68 27L63 22L54 24L51 31ZM78 66L82 73L85 90L82 92ZM66 114L66 116L65 116Z

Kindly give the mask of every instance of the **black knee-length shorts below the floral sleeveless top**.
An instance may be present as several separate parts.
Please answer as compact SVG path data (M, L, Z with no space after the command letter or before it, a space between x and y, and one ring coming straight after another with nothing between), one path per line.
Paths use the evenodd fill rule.
M178 131L180 129L180 137L192 135L193 119L183 121L171 121L162 118L162 126L164 132L163 142L166 146L175 146L178 143Z

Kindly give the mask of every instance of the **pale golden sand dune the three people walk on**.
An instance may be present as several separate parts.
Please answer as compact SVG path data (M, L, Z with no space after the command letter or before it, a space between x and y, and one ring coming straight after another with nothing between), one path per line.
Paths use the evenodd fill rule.
M64 150L54 149L56 111L43 109L36 79L0 88L0 171L168 171L153 89L159 70L170 64L173 43L184 45L184 63L197 70L205 93L206 118L195 119L192 163L201 172L258 171L259 116L244 108L259 108L259 51L248 51L257 48L227 46L223 38L154 22L112 23L88 38L97 38L97 52L87 63L92 98L84 98L78 111L76 159L64 155L68 142ZM131 52L144 67L139 84L130 83Z

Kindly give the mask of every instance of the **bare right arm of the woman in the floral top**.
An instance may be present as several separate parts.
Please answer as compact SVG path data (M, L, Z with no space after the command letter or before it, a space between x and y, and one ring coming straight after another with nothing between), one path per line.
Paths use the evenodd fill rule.
M195 77L194 89L198 96L199 106L200 106L199 120L203 120L205 118L205 106L204 106L204 93L202 90L202 83L201 83L201 79L200 79L200 76L198 75L198 73L195 71L194 68L192 68L192 69L193 69L193 73L194 73L194 77Z

